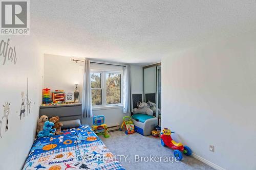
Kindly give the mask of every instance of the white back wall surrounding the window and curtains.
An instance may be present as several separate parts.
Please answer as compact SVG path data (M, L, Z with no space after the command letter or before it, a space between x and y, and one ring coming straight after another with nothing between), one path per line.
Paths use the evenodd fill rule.
M83 63L72 62L71 57L57 56L57 55L44 55L44 87L52 90L63 89L66 92L73 92L75 89L75 82L78 82L79 91L82 91L82 73ZM110 68L111 67L111 68ZM91 69L114 69L115 71L122 70L122 67L107 66L101 64L91 64ZM132 79L132 93L143 93L143 70L141 66L131 66L131 79ZM81 93L80 93L81 94ZM121 125L122 108L109 108L109 109L93 109L93 114L104 115L105 123L108 126ZM92 118L82 119L83 124L92 125Z

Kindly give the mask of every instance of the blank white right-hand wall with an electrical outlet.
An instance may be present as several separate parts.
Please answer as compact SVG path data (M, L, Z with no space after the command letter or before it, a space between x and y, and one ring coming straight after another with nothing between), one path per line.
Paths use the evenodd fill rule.
M248 33L162 59L162 127L225 169L256 169L255 40Z

